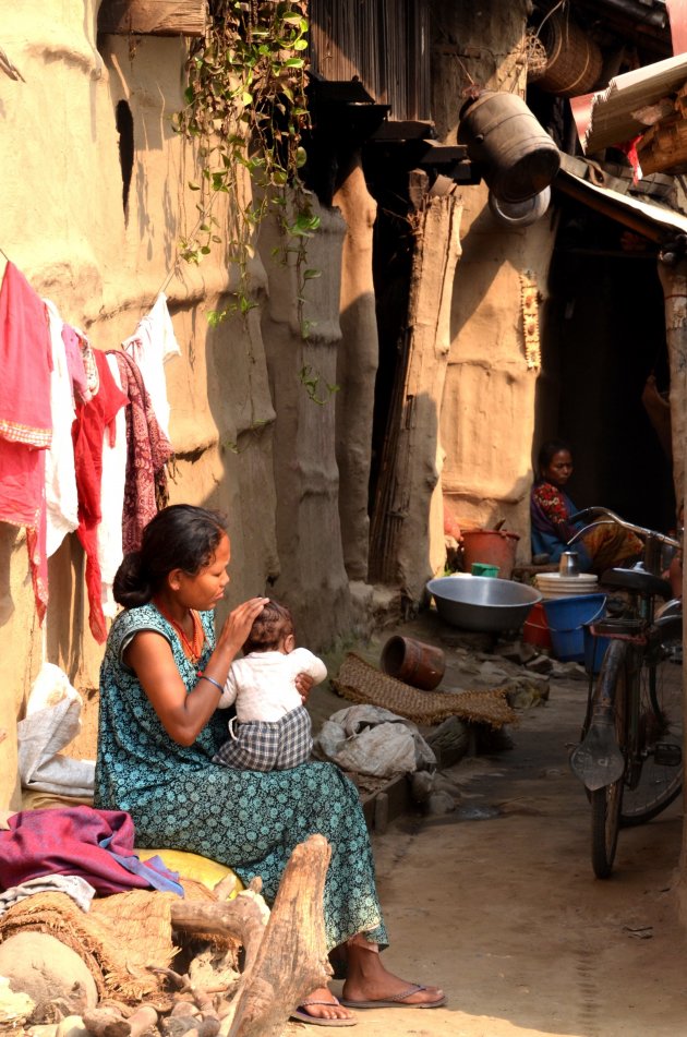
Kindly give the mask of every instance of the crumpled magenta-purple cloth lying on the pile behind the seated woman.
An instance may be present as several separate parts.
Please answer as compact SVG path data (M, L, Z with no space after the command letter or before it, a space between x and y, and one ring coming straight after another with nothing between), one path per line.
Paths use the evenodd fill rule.
M8 824L9 831L0 831L3 890L46 875L76 875L96 893L108 895L131 889L159 889L158 877L167 881L177 878L161 861L157 867L137 861L134 823L123 810L45 807L13 813ZM121 865L114 854L131 858L136 871Z

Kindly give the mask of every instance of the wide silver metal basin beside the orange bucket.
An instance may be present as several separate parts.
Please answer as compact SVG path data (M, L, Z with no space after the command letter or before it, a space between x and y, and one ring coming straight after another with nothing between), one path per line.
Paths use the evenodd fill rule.
M442 619L463 630L516 630L532 605L542 600L533 587L487 576L442 576L430 580L427 591Z

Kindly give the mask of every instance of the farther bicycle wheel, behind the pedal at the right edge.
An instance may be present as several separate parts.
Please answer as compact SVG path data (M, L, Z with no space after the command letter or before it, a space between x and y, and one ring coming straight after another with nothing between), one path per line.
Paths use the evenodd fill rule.
M682 640L656 646L639 662L638 731L620 823L642 824L673 803L683 787Z

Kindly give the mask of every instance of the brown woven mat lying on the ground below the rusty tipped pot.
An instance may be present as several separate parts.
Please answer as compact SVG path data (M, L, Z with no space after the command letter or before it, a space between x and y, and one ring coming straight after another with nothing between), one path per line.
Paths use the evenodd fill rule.
M449 716L494 729L516 724L517 714L508 706L505 688L485 691L419 691L371 666L355 652L348 652L332 684L345 699L381 706L415 724L441 724Z

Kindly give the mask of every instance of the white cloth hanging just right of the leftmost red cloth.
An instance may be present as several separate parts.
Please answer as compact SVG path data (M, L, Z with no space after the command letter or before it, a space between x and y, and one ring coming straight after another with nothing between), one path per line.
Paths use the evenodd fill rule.
M46 555L58 550L68 533L79 526L79 496L74 469L72 424L76 412L72 393L72 377L62 339L63 321L55 303L43 300L50 321L52 373L50 375L50 410L52 442L46 451Z

